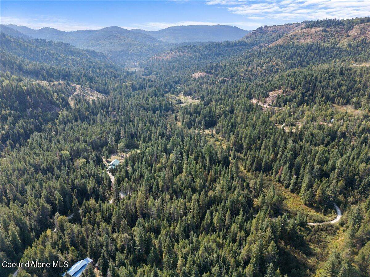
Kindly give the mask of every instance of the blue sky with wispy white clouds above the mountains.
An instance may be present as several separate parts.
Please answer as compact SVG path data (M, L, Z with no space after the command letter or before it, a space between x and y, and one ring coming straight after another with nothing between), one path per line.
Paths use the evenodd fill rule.
M245 30L322 18L370 16L366 0L283 1L9 1L0 0L1 24L63 31L108 26L159 30L174 25L224 24Z

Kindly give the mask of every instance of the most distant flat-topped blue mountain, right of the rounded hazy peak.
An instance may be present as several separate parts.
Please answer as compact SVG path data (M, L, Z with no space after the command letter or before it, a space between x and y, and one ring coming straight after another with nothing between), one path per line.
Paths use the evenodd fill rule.
M195 41L235 41L248 34L249 31L228 25L188 25L173 26L158 31L133 29L131 31L151 35L160 41L169 43Z

